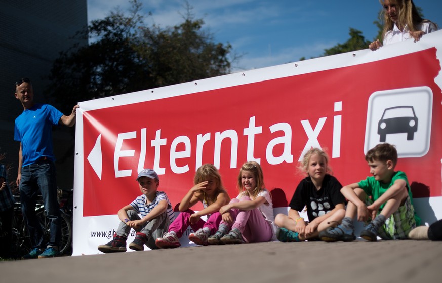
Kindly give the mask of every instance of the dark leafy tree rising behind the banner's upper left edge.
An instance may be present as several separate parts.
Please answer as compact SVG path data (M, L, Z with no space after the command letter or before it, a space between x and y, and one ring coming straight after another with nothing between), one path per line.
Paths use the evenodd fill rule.
M55 60L47 93L68 111L78 101L107 97L230 72L230 44L216 43L187 6L173 27L146 25L141 3L129 15L112 11L88 26L90 44L73 46ZM65 107L65 109L63 109Z

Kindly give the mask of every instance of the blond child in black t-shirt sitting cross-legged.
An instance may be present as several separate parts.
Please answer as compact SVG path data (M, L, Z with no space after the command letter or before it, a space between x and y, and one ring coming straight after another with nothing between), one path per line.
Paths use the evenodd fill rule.
M275 224L280 227L276 232L278 240L317 239L320 231L340 223L344 218L342 185L329 174L328 161L327 153L318 148L312 148L304 155L300 167L308 176L296 188L288 215L278 214L275 217ZM307 207L308 221L299 216L304 207Z

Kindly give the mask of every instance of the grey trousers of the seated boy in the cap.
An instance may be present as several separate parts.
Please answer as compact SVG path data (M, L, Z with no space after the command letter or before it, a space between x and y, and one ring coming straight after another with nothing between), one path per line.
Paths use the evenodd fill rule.
M138 216L138 214L133 210L128 210L127 214L130 220L141 219L140 216ZM156 250L158 249L158 247L156 247L155 245L155 240L157 238L162 237L164 232L167 232L167 230L169 229L169 225L170 225L170 219L169 216L167 215L167 211L165 211L162 214L155 217L154 219L148 221L146 224L144 224L144 226L135 230L137 232L146 234L148 238L146 246L149 247L151 250ZM116 234L118 236L127 237L130 231L131 227L126 225L126 223L122 221L118 226Z

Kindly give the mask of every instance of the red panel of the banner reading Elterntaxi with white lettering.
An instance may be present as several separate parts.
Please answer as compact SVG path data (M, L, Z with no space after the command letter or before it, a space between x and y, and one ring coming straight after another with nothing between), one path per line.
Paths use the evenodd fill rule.
M397 146L396 170L407 173L414 197L441 196L442 94L434 81L439 71L436 48L429 48L357 65L85 110L83 216L116 214L129 204L140 194L135 181L140 168L153 168L159 174L159 190L174 206L192 186L195 170L205 163L219 168L234 197L239 168L248 160L261 164L274 206L287 207L305 176L297 169L305 150L327 148L334 175L346 185L370 175L365 152L373 142L381 142L382 133L386 142ZM417 127L379 130L387 109L395 107L413 109Z

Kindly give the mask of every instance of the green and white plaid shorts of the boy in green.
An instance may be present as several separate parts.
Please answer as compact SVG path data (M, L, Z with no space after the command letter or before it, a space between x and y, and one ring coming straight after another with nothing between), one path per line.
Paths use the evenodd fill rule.
M373 201L367 197L366 204L371 205L372 203ZM378 235L384 240L407 239L408 233L415 227L414 207L410 197L407 197L404 205L386 219L385 224L379 229Z

